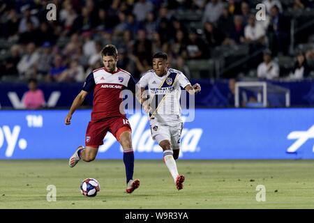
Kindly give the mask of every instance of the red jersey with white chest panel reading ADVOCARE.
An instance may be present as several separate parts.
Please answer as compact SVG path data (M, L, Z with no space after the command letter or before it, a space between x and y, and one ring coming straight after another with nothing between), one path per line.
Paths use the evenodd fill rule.
M135 81L129 72L118 68L116 72L107 72L105 68L93 70L84 82L83 91L94 90L91 120L100 120L114 116L125 116L120 112L121 95L124 89L135 93Z

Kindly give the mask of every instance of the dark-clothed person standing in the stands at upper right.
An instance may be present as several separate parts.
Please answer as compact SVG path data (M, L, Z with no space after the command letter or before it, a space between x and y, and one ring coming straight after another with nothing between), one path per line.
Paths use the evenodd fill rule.
M271 8L271 21L268 27L271 52L287 54L289 47L290 22L286 20L277 5Z

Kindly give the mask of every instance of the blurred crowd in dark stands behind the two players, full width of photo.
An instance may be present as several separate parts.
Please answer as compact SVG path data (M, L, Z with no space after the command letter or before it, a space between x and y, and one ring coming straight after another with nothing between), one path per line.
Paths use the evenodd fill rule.
M135 79L164 51L189 78L313 77L311 0L1 0L2 82L83 82L114 44ZM47 20L46 6L57 6ZM266 20L256 20L264 3Z

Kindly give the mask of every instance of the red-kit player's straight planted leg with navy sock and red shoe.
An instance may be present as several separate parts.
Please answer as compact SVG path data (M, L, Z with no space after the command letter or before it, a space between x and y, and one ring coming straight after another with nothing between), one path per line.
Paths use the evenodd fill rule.
M121 125L122 123L122 125ZM118 128L118 130L116 130ZM131 128L126 118L118 118L112 125L110 131L114 131L116 139L124 150L124 166L126 168L126 192L132 193L140 186L140 180L133 180L134 173L134 151L132 147Z

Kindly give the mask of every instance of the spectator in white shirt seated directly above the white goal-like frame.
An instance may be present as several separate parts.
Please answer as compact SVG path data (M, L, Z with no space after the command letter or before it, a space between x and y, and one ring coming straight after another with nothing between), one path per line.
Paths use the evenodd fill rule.
M266 49L263 56L264 62L257 67L257 77L262 79L275 79L279 77L278 63L271 59L271 51Z

